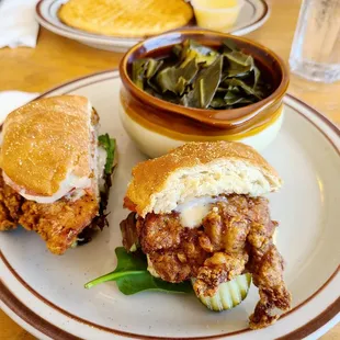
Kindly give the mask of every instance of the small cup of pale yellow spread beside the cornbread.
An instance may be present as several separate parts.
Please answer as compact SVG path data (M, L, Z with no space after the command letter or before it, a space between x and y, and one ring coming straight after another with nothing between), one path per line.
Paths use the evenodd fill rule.
M191 4L199 26L223 32L236 23L243 0L192 0Z

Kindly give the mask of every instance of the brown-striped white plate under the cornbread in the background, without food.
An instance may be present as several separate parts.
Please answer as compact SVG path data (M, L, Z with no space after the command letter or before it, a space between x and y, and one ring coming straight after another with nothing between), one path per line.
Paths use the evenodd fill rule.
M67 1L68 0L41 0L35 8L36 20L45 29L58 35L100 49L125 52L140 41L137 38L92 34L64 24L59 20L57 11L59 7ZM235 26L233 26L228 33L243 35L252 32L262 26L269 15L270 9L264 0L245 0L240 15Z

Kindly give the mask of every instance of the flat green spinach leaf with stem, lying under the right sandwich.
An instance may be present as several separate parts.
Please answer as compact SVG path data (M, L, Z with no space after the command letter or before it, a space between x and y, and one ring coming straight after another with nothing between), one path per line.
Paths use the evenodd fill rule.
M88 282L84 287L91 288L97 284L115 281L118 290L125 295L136 294L141 291L158 291L172 293L191 293L192 285L189 281L169 283L154 277L147 270L147 260L141 252L126 252L124 247L115 249L117 257L116 269Z

